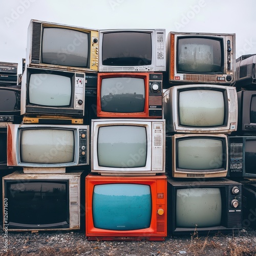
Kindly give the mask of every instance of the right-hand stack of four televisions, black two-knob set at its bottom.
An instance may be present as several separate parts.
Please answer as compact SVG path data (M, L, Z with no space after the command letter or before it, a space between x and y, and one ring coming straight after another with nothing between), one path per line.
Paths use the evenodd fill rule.
M168 232L242 227L242 185L226 178L238 128L235 34L169 32L163 95Z

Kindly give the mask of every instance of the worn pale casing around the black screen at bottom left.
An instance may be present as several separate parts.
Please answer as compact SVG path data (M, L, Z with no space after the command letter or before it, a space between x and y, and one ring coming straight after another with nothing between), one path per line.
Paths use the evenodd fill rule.
M3 227L7 228L9 231L42 231L42 230L78 230L78 229L82 229L83 228L83 224L84 221L82 220L82 218L80 218L82 216L82 200L84 199L84 193L82 188L84 187L83 185L83 177L84 177L84 173L83 171L75 171L75 172L70 172L70 173L65 173L65 174L39 174L39 175L35 175L35 174L24 174L22 171L16 171L13 172L9 175L6 175L3 177L3 202L4 199L6 198L5 194L6 194L6 186L5 183L6 182L22 182L24 181L28 181L28 180L32 180L32 181L36 181L36 180L51 180L51 181L65 181L68 182L68 196L69 196L69 205L68 205L68 210L69 210L69 227L64 227L64 228L52 228L50 225L49 227L43 227L43 228L39 228L38 227L28 227L28 228L22 228L22 227L17 227L14 228L9 224L6 224L6 217L5 217L5 209L3 207ZM53 214L53 213L52 213ZM7 218L7 222L8 222L8 218Z

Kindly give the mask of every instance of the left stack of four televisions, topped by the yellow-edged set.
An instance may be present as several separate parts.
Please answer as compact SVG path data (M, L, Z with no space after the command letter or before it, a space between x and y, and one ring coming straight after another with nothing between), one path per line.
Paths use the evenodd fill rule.
M29 24L16 97L23 118L7 125L7 165L18 168L3 178L3 198L12 202L8 230L84 229L90 165L85 84L87 73L98 72L97 49L96 29L34 19Z

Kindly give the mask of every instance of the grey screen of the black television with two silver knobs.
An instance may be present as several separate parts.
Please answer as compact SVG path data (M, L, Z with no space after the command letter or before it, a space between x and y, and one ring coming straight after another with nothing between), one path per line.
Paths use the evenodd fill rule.
M221 191L219 188L177 190L177 227L198 228L221 225Z

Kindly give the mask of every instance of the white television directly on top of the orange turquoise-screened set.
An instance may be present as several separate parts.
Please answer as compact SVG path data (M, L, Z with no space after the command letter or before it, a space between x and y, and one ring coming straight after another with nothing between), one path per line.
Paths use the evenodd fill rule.
M93 119L91 172L120 176L165 173L165 120Z

